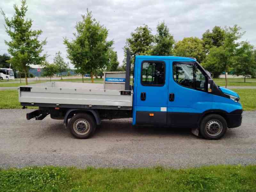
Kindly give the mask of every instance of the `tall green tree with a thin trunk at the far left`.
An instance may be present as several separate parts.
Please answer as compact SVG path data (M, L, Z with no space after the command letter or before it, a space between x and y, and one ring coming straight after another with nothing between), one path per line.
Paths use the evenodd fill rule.
M25 73L26 84L28 84L29 65L41 64L46 58L46 54L41 56L46 39L40 42L38 37L42 34L42 30L32 30L32 20L25 19L28 11L25 0L21 1L20 9L16 4L13 7L15 13L11 19L7 18L1 9L5 21L5 31L11 38L11 41L4 42L9 46L8 52L12 55L12 64L16 69Z

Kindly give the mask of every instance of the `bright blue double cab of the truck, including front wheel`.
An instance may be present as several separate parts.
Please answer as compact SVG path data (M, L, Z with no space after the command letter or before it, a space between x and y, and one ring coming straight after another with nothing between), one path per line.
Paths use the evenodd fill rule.
M133 125L189 127L206 139L241 125L238 94L218 87L196 59L136 56L133 78Z

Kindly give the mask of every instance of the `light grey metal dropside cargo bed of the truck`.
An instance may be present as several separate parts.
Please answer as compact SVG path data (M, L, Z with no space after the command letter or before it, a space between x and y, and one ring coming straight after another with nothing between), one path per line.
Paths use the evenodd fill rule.
M132 109L132 91L105 90L103 84L46 82L18 91L23 106Z

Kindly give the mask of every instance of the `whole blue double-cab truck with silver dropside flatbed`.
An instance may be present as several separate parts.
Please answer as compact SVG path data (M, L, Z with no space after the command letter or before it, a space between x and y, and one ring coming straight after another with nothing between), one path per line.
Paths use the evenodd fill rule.
M132 117L133 126L188 127L211 140L241 125L239 95L217 86L195 58L136 56L130 85L129 51L127 55L123 90L65 82L20 86L21 105L39 107L27 119L50 114L63 119L79 139L91 137L102 119Z

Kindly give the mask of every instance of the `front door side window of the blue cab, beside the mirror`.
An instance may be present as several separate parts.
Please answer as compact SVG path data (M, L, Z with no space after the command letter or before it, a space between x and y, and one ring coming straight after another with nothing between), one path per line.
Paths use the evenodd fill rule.
M176 83L192 89L205 90L205 76L193 63L175 62L172 71Z

